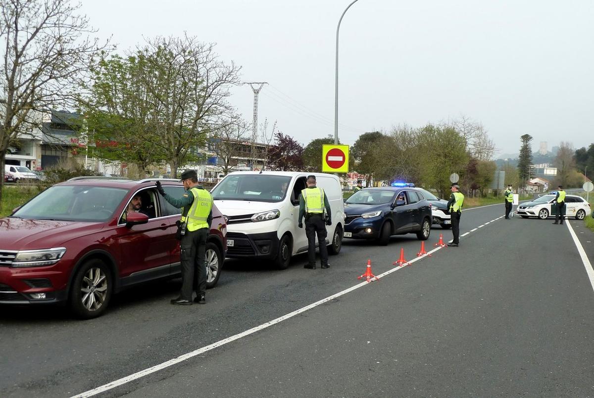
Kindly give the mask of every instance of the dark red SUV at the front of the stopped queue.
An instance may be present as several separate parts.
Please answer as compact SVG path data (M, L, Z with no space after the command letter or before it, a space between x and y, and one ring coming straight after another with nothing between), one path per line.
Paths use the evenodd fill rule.
M156 181L77 177L0 219L0 304L67 302L78 317L94 318L123 288L179 276L180 210L157 193ZM184 192L178 181L159 181L173 197ZM137 195L140 211L124 217ZM207 288L219 280L227 252L227 225L216 206L213 217Z

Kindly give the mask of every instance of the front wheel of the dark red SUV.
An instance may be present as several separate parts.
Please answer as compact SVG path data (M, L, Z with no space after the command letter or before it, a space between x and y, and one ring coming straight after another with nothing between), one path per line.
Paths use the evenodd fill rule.
M101 260L89 260L72 279L70 309L81 319L99 317L108 308L112 292L113 277L109 267Z

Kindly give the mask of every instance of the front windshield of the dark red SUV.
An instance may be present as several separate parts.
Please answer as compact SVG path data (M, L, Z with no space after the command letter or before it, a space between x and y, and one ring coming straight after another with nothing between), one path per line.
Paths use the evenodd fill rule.
M31 199L12 217L34 220L103 222L109 220L128 189L54 185Z

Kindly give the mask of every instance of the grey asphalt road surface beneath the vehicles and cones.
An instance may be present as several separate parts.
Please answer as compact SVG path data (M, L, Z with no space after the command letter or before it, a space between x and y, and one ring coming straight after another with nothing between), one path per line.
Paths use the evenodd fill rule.
M415 235L387 247L347 240L326 270L303 269L305 256L284 271L229 261L207 305L170 305L172 280L127 290L89 321L2 307L0 396L594 396L594 278L583 263L594 263L594 233L571 222L580 255L567 225L503 212L464 211L459 248L402 268L393 262L400 248L416 257ZM451 239L432 229L428 251L440 233ZM362 284L368 259L391 273Z

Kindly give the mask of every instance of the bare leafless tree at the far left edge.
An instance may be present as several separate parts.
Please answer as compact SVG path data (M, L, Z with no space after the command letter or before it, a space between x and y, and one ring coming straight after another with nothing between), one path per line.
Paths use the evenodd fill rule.
M71 104L93 55L106 49L79 9L69 0L0 0L0 199L8 146L32 135L43 113Z

